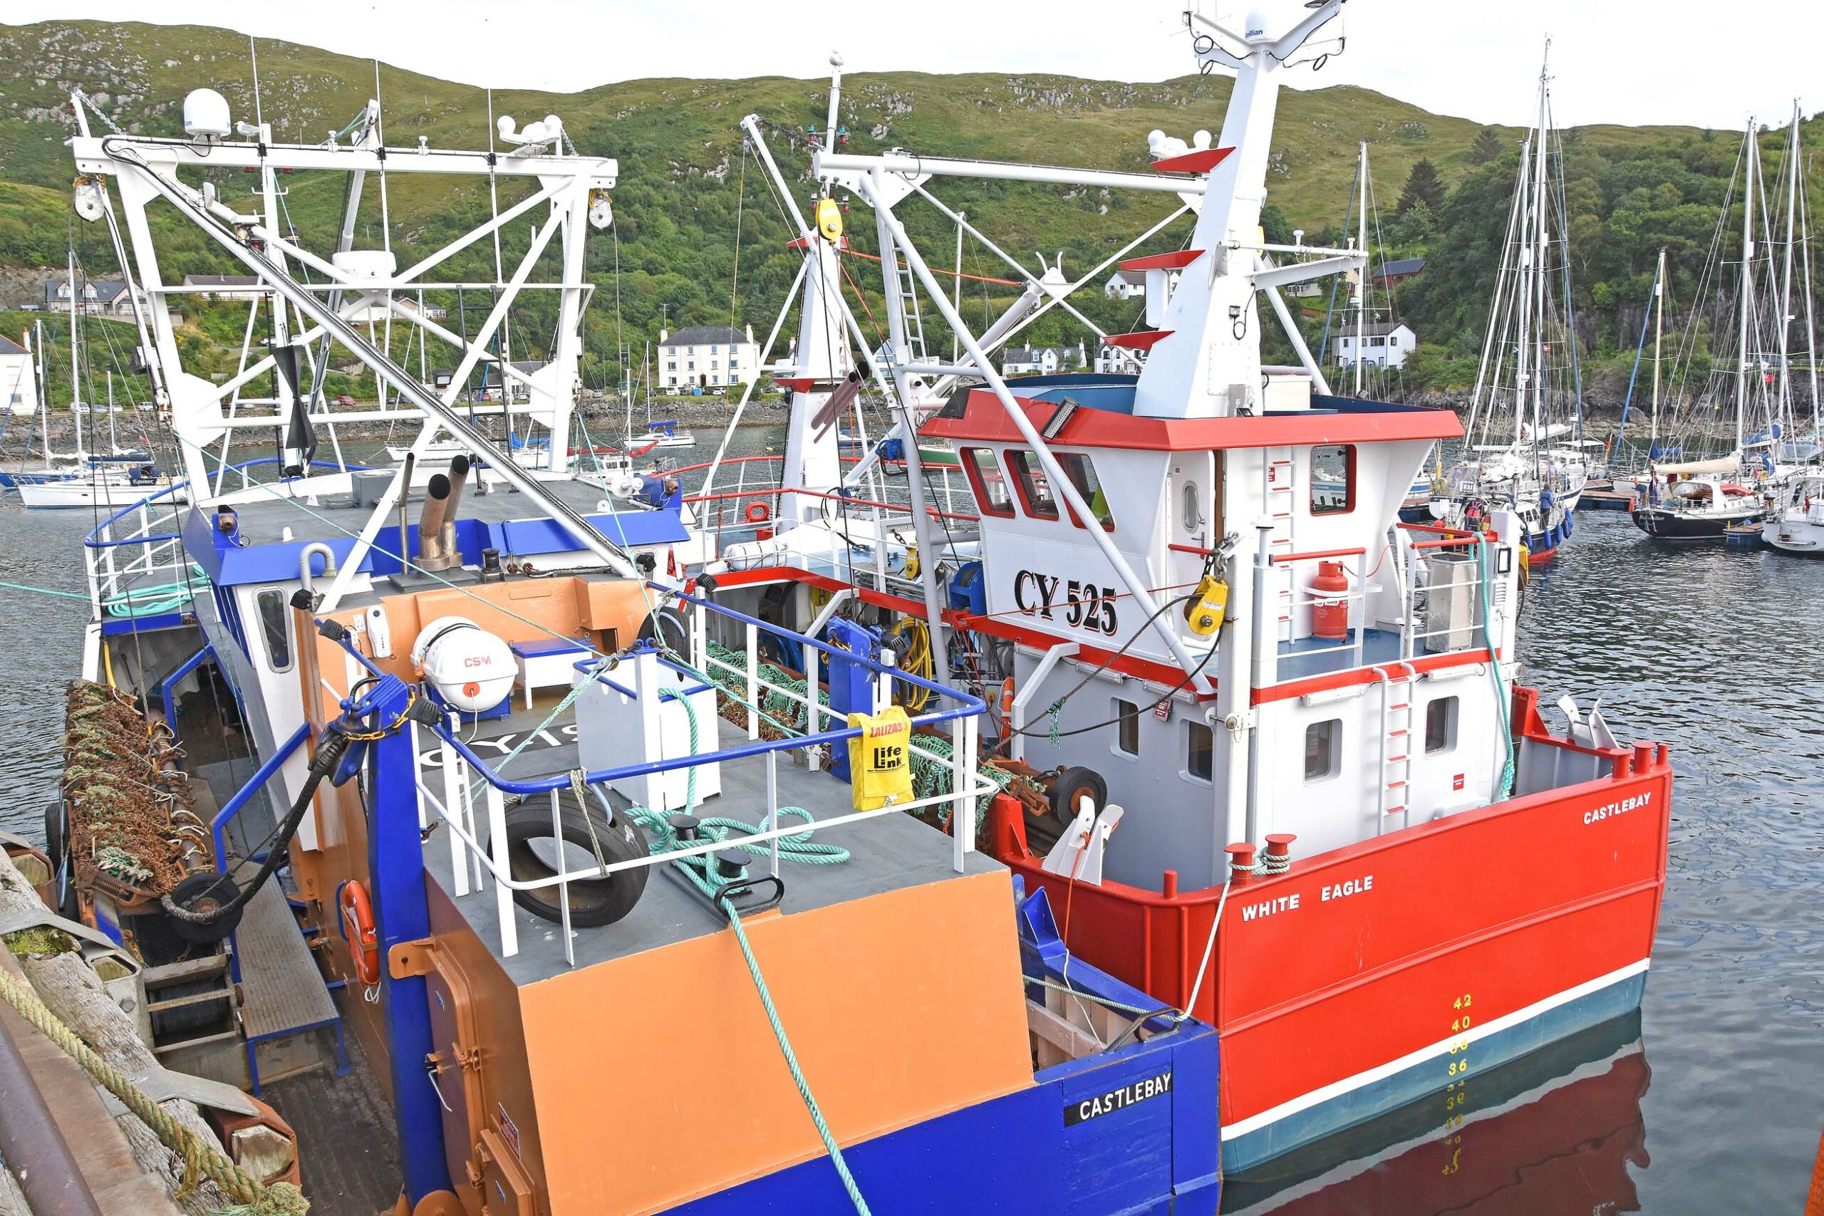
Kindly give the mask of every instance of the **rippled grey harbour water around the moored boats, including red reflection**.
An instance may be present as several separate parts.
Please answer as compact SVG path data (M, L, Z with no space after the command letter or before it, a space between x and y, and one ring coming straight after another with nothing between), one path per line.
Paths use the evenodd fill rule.
M741 450L768 441L751 432ZM0 496L0 580L80 593L91 523ZM1529 600L1521 658L1545 702L1601 696L1620 738L1673 746L1671 866L1638 1036L1623 1026L1492 1081L1492 1105L1461 1128L1421 1123L1372 1158L1279 1163L1297 1185L1237 1185L1231 1207L1804 1209L1824 1127L1824 562L1663 552L1625 514L1589 514ZM0 605L0 826L38 839L88 607L7 589Z

